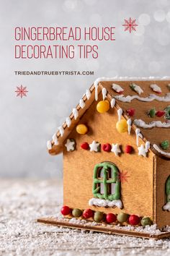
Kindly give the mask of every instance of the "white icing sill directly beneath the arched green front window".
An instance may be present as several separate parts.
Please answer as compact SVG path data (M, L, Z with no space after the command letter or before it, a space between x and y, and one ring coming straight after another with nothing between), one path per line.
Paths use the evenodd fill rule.
M92 205L96 205L96 206L99 206L99 207L117 207L117 208L120 208L122 209L122 201L121 200L112 200L112 201L109 201L109 200L105 200L105 199L100 199L100 198L97 198L97 197L93 197L89 200L89 205L92 206Z

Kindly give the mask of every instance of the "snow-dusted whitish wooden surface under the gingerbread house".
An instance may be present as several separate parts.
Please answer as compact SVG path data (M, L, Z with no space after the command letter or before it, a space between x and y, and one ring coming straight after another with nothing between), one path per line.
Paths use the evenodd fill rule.
M170 239L155 241L36 223L40 216L58 215L62 187L55 180L1 180L0 195L0 255L170 255Z

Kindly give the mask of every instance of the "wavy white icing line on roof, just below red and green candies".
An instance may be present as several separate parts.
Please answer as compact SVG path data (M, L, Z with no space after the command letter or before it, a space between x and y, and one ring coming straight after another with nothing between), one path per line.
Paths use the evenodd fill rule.
M158 127L158 128L169 128L170 127L170 121L167 121L167 122L151 121L151 123L146 124L146 122L141 119L135 119L134 124L137 125L138 127L144 128L144 129L149 129L149 128L153 128L153 127Z

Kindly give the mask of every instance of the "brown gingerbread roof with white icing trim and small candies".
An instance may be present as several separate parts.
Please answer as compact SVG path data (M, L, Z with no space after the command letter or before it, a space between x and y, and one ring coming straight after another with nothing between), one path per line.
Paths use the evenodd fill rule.
M170 78L99 78L94 85L86 90L86 94L73 108L71 115L58 132L53 135L53 140L48 141L48 152L56 155L62 152L63 142L70 132L79 123L79 119L94 100L97 101L99 93L106 93L111 107L122 108L122 116L132 120L132 129L140 129L143 141L151 143L151 150L156 155L170 158L169 148L161 148L161 142L170 141ZM105 88L105 89L103 89ZM103 89L103 90L102 90ZM134 109L133 116L128 115L128 110ZM130 120L129 120L130 121Z

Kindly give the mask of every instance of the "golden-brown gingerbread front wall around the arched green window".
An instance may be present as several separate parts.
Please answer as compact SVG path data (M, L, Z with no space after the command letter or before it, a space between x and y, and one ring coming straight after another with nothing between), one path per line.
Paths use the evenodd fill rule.
M102 100L102 93L99 100ZM86 124L89 132L79 135L76 128L73 129L68 138L76 140L76 150L67 152L63 147L63 186L64 205L71 208L89 208L89 199L93 197L93 170L97 163L111 161L122 172L128 172L128 182L121 184L121 200L124 208L99 208L91 207L103 212L119 213L125 212L138 216L150 216L153 218L153 156L149 150L148 157L138 155L135 132L118 133L115 125L118 121L117 109L110 108L107 113L99 114L96 110L97 102L94 101L90 108L81 117L79 123ZM96 140L103 143L118 143L121 145L122 153L115 156L114 153L90 152L80 148L82 142L89 144ZM139 139L139 145L144 142ZM64 143L65 144L65 143ZM132 145L134 152L125 153L125 145Z

